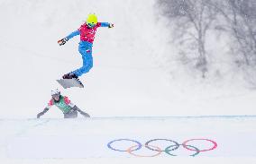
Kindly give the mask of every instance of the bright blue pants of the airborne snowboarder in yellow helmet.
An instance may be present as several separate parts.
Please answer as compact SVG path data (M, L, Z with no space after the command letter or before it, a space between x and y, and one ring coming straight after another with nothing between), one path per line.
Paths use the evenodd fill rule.
M92 56L92 47L93 44L87 41L80 41L79 43L79 53L83 58L83 66L73 71L78 77L83 73L89 72L89 70L93 67L93 56Z

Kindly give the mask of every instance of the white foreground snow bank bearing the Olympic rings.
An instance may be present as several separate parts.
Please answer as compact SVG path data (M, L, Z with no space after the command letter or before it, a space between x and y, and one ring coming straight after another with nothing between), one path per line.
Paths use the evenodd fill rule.
M253 163L255 125L256 117L2 119L0 130L5 133L0 138L0 160L139 163L142 158L149 163L155 159L197 163L226 159L232 163L241 160ZM151 149L162 152L147 149L146 142ZM168 146L171 146L169 153L163 151Z

